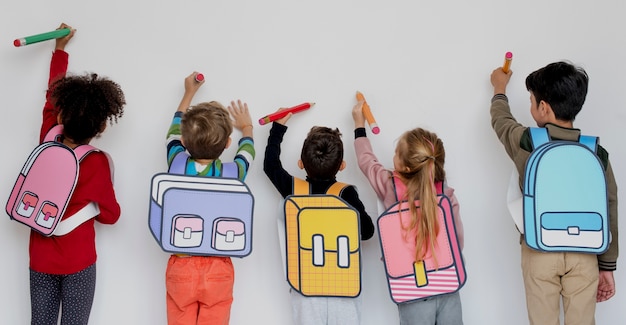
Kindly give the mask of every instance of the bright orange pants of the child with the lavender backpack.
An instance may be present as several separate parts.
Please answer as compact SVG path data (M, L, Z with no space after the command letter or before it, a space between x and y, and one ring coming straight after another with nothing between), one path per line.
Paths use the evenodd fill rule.
M235 281L230 257L172 255L165 278L169 325L228 325Z

